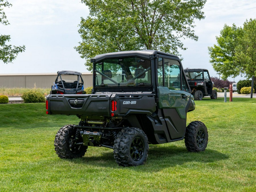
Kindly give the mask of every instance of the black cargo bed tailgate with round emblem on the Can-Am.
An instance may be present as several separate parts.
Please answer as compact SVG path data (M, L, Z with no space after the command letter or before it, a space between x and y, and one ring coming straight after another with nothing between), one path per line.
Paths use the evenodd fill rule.
M111 94L47 95L48 114L110 116Z

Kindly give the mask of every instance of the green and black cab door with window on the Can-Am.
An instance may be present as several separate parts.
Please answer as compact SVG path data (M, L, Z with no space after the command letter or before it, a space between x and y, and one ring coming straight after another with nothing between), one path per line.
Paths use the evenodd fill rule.
M195 108L195 103L190 101L193 96L180 60L176 57L160 56L157 59L156 81L158 108L162 110L170 138L183 138L187 112Z

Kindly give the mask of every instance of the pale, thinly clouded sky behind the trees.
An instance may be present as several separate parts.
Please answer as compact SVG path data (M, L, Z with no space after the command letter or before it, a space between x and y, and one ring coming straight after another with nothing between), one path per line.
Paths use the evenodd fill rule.
M88 16L88 8L79 0L9 0L5 8L8 26L0 25L0 34L11 35L11 45L25 45L13 63L0 61L0 74L57 73L58 70L87 72L84 60L74 47L81 41L78 33L80 17ZM205 19L195 21L198 41L182 40L183 67L206 68L217 76L209 63L207 47L216 44L216 36L224 24L243 26L246 19L256 18L256 0L207 0ZM244 79L235 78L235 81ZM229 78L233 80L233 78Z

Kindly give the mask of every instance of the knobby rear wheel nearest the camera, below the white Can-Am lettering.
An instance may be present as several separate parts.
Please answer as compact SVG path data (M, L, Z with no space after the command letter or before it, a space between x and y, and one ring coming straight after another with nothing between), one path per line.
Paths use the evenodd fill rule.
M148 157L148 138L138 128L121 130L114 142L114 158L121 166L143 165Z

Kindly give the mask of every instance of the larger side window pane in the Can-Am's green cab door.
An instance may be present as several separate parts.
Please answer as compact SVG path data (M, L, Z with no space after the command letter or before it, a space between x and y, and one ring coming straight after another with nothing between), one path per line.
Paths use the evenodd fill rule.
M164 86L181 90L180 64L177 60L164 58Z

